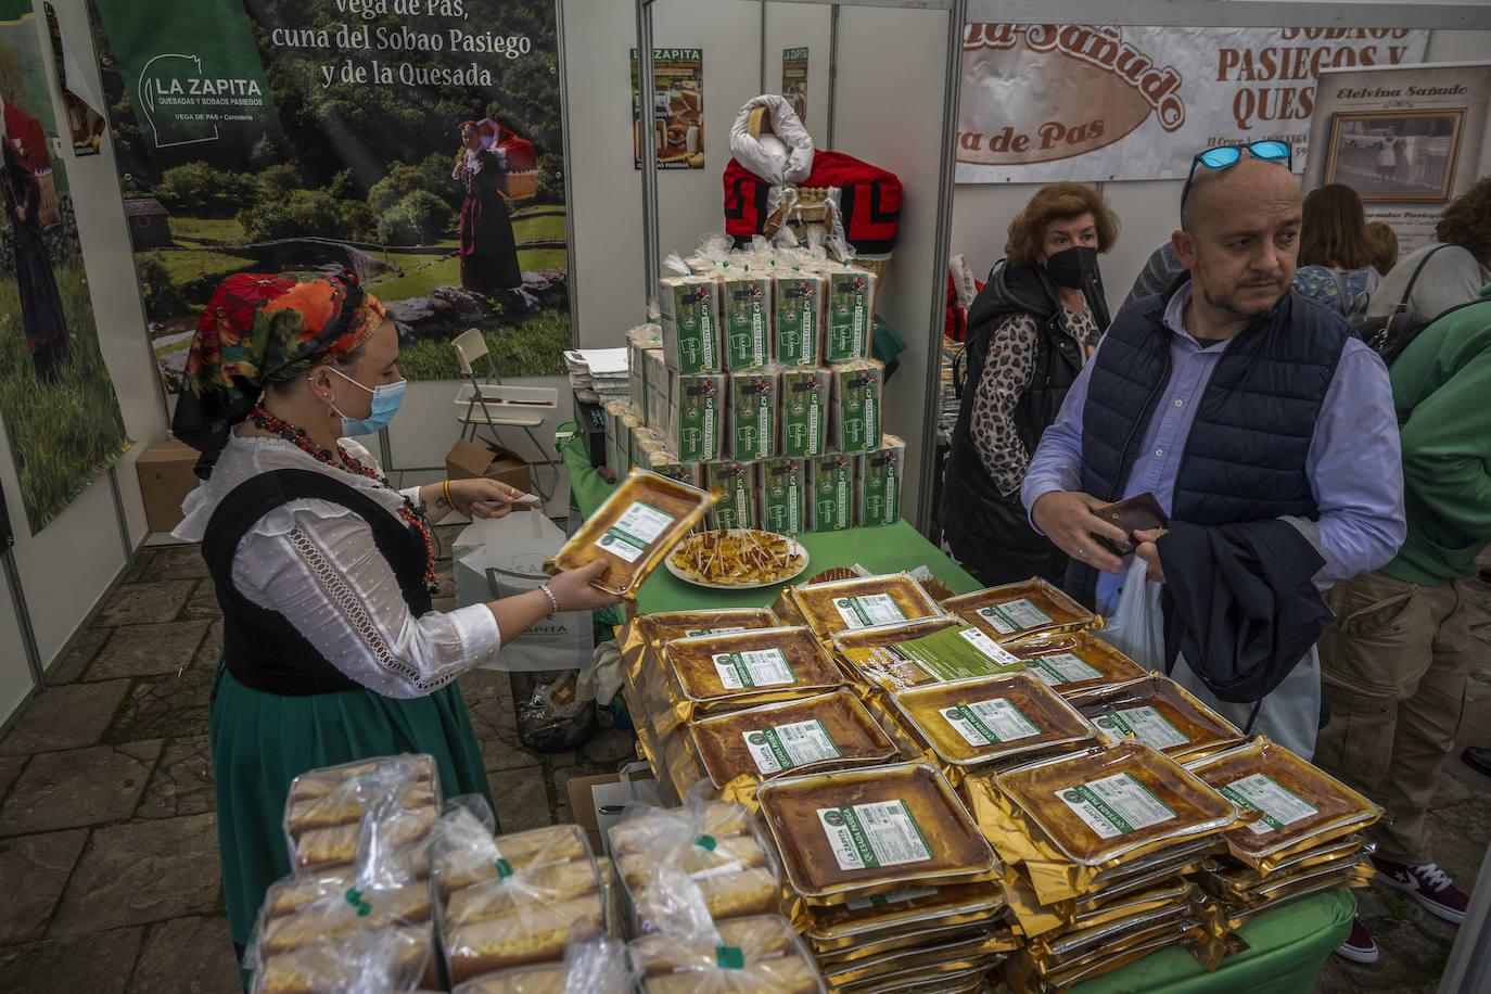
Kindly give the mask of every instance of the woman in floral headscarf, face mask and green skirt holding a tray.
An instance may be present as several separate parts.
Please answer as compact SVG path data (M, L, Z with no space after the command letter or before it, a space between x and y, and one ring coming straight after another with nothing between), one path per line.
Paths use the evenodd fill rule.
M197 325L173 428L203 484L174 535L203 542L222 607L209 730L234 943L289 873L282 830L306 770L428 753L446 794L491 800L455 680L558 611L616 599L604 563L529 593L432 611L429 523L501 517L523 496L494 480L395 490L344 435L398 408L398 337L350 274L236 274ZM494 806L501 811L499 805Z

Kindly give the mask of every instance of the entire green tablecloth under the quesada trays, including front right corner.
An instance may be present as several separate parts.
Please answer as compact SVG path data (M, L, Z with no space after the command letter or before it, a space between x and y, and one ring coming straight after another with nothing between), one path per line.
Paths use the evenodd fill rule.
M571 440L561 450L570 469L570 490L576 507L589 517L614 484L599 477L581 444ZM808 550L805 575L851 563L887 572L924 565L957 593L978 589L972 577L907 522L889 528L801 535L799 541ZM769 605L780 590L781 584L756 590L708 590L684 583L666 569L658 569L638 592L637 610L649 614ZM1308 994L1325 957L1351 934L1354 914L1357 899L1351 891L1315 894L1242 925L1238 933L1249 948L1227 957L1215 973L1203 970L1184 949L1160 949L1112 973L1078 984L1072 994Z

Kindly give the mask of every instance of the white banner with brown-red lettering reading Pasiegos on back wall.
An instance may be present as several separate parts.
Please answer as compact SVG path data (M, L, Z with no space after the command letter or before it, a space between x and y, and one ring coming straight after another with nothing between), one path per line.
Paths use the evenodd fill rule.
M1419 63L1428 31L969 24L957 182L1184 179L1278 139L1305 168L1323 69Z

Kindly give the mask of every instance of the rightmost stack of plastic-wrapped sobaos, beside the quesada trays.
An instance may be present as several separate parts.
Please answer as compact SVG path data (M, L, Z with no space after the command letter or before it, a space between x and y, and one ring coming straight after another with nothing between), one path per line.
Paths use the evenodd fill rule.
M607 833L631 908L632 972L649 994L784 991L823 982L777 914L781 872L741 805L690 797Z

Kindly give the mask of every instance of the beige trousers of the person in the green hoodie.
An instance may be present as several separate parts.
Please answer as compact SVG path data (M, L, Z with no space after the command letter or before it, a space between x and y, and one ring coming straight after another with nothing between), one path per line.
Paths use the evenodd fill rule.
M1336 584L1325 602L1336 612L1320 638L1330 723L1315 741L1315 765L1382 805L1379 855L1430 863L1425 812L1469 680L1464 592L1367 572Z

